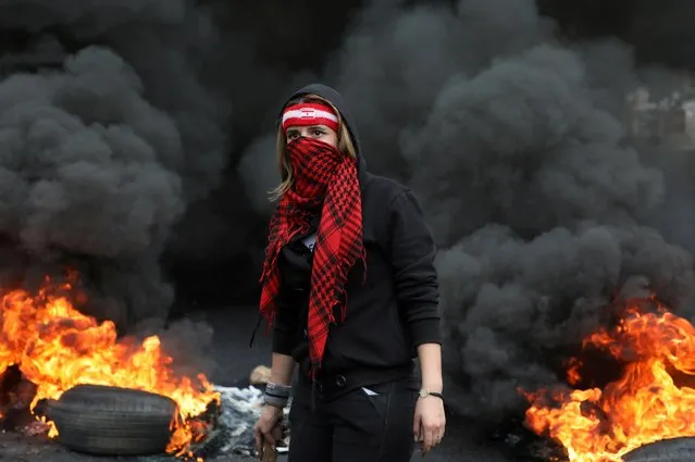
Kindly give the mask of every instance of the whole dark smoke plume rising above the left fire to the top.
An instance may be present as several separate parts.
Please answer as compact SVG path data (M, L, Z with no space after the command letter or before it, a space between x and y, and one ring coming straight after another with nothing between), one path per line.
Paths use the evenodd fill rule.
M0 5L3 282L70 264L89 313L121 327L165 320L162 251L227 155L203 13L185 0Z

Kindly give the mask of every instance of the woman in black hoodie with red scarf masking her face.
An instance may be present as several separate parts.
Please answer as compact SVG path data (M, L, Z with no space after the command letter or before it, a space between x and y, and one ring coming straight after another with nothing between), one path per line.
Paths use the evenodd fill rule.
M322 84L283 107L277 164L261 276L273 353L259 457L293 391L289 462L407 462L417 441L426 453L446 417L436 247L415 196L368 172L343 97Z

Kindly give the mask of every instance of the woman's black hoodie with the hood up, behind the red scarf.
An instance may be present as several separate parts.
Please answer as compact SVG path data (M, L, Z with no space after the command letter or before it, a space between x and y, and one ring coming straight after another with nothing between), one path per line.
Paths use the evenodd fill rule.
M312 84L287 101L309 93L331 101L352 137L359 157L367 251L367 277L362 265L355 265L348 275L347 316L331 326L321 374L375 371L376 377L384 370L411 371L419 345L440 342L432 234L410 189L367 171L356 126L340 93ZM311 250L301 238L289 242L278 259L281 292L273 351L293 355L306 367ZM368 385L369 374L367 377L365 383L352 385Z

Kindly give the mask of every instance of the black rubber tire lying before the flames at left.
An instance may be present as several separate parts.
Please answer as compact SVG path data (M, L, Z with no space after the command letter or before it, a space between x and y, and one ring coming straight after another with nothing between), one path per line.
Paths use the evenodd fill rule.
M149 455L165 451L176 412L176 402L161 395L78 385L51 401L47 414L67 449L98 455Z

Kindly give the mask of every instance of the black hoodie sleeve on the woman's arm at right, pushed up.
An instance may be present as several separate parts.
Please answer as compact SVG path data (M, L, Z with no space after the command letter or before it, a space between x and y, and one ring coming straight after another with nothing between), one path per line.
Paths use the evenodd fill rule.
M389 212L390 263L404 319L415 347L440 344L439 285L432 233L410 190L394 199Z

